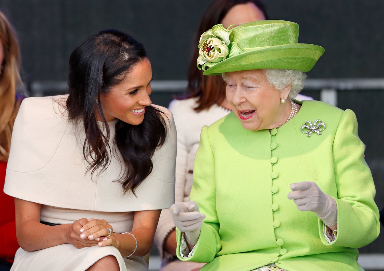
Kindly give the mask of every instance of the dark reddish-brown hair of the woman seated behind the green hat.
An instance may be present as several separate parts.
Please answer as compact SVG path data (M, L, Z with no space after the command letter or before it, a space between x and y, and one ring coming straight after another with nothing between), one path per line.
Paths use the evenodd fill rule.
M265 19L268 20L265 4L261 0L215 0L205 10L199 28L197 28L197 32L195 33L194 42L199 41L202 33L212 26L221 23L231 8L235 5L246 3L255 4L256 7L262 11ZM196 49L189 64L187 95L182 97L182 99L197 97L198 105L195 110L200 112L201 110L210 108L215 103L220 104L225 99L225 82L221 75L203 76L204 71L200 71L196 67L198 56L199 50Z

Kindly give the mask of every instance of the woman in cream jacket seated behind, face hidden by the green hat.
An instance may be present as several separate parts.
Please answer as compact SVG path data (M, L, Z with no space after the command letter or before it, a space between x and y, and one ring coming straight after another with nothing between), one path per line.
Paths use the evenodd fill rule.
M218 23L226 27L248 21L268 19L265 5L260 0L215 0L205 11L193 41L199 40L203 30ZM227 115L230 105L225 99L225 82L221 76L205 76L196 66L199 55L193 51L188 74L188 95L174 100L169 109L177 127L177 159L175 201L188 200L192 187L194 157L200 142L200 131ZM163 210L157 226L155 242L162 258L161 271L192 270L202 263L182 262L176 258L175 225L169 210Z

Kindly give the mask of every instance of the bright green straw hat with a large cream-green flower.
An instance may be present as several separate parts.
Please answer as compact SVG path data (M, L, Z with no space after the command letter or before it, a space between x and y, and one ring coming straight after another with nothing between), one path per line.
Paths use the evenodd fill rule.
M256 69L307 72L324 48L297 43L298 36L299 25L290 21L253 21L231 30L215 25L200 37L197 67L209 67L204 75Z

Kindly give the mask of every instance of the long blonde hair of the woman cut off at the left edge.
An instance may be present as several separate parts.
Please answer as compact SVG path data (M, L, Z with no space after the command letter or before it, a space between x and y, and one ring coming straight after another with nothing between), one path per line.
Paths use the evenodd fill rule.
M20 79L20 48L15 31L0 11L0 41L4 59L0 74L0 161L8 161L13 123L20 104L16 101L16 88Z

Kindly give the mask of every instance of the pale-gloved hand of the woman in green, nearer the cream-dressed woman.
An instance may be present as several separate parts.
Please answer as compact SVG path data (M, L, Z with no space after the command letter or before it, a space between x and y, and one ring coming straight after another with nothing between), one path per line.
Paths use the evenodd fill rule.
M199 239L204 214L200 214L199 205L194 201L178 202L170 207L175 226L184 232L185 241L191 246Z

